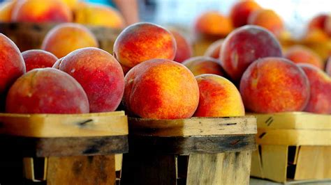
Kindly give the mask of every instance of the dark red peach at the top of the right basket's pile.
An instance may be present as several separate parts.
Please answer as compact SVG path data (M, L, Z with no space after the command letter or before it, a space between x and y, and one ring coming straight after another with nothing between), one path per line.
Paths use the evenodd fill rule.
M226 37L220 60L226 73L237 82L253 61L267 56L281 56L277 38L263 27L247 25Z

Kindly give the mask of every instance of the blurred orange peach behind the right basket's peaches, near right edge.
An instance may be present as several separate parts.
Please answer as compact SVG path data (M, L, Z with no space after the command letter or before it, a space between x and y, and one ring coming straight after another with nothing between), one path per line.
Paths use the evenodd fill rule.
M300 45L290 47L284 54L286 58L294 63L309 63L321 70L324 68L323 60L313 50Z

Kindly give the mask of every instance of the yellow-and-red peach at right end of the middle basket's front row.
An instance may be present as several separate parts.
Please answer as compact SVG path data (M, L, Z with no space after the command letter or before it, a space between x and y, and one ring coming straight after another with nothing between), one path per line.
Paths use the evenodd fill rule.
M228 79L215 74L196 77L200 100L196 117L223 117L245 115L244 104L239 91Z

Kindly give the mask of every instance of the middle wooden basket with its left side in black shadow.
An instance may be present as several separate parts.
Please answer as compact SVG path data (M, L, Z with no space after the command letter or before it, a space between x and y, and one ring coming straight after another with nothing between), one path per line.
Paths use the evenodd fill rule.
M256 118L129 118L121 184L249 184Z

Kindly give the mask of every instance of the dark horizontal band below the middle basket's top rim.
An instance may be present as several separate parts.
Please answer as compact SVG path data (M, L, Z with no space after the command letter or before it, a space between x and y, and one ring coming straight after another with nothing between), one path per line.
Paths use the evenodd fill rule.
M129 136L130 152L152 154L206 154L255 150L255 135L156 137Z

